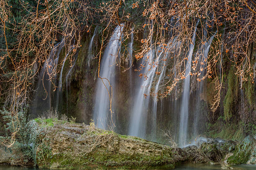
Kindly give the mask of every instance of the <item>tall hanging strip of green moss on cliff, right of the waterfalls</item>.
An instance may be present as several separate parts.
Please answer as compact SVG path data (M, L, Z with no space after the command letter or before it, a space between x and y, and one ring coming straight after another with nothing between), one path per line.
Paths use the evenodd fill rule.
M224 105L224 117L226 121L229 121L233 113L236 111L234 105L238 100L238 77L235 75L234 68L231 67L228 73L228 91L225 95L223 102Z

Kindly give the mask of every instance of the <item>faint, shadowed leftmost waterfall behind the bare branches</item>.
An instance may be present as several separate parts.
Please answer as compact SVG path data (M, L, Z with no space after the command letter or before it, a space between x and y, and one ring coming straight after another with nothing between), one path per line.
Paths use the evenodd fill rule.
M55 73L59 60L59 54L64 46L64 39L54 45L50 51L48 59L44 62L44 66L39 73L36 85L36 91L33 94L33 103L31 105L31 116L37 117L38 114L52 108L52 83L51 79Z

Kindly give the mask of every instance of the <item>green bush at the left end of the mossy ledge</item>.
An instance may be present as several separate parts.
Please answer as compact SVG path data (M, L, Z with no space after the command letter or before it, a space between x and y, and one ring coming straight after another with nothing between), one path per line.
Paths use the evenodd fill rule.
M15 141L8 148L11 153L10 164L12 165L36 165L37 139L41 131L35 120L27 121L26 112L26 109L18 112L18 117L12 120L10 112L6 109L0 110L4 121L7 122L5 125L7 134L0 140L11 141L10 134L16 132Z

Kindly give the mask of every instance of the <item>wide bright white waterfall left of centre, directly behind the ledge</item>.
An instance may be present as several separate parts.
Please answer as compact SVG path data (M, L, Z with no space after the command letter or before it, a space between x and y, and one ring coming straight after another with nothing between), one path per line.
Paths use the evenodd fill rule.
M112 86L113 89L115 88L115 65L123 27L124 25L121 24L115 28L101 60L100 77L103 79L98 78L97 80L93 112L93 119L95 120L98 128L107 129L108 119L113 118L109 117L110 97L112 93L110 86ZM110 81L110 85L107 79ZM108 92L110 93L110 96ZM113 94L113 96L114 95L115 94Z

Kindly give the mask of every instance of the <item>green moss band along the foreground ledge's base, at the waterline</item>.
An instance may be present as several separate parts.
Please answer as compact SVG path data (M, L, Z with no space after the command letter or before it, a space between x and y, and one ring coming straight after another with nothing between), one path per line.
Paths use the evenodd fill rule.
M40 152L41 150L41 152ZM80 158L74 158L72 154L55 154L51 153L51 148L42 145L38 152L38 165L41 168L64 168L72 169L109 169L112 168L125 168L125 169L165 169L174 168L173 160L169 154L159 156L146 156L146 155L125 155L125 154L112 154L106 152L105 147L95 149L88 155L83 155Z

